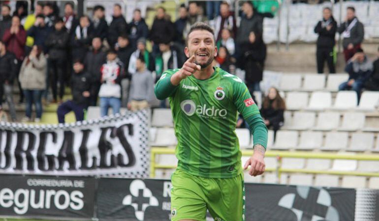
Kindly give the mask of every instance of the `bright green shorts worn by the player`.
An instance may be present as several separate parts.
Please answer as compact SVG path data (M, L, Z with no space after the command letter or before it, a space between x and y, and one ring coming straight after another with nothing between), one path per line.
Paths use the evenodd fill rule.
M205 178L176 169L171 182L171 221L205 221L207 209L215 221L245 221L243 174Z

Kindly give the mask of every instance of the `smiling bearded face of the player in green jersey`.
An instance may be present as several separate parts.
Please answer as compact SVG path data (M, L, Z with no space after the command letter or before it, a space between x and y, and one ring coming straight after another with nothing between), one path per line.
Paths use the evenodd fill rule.
M207 30L194 30L188 36L188 46L184 50L187 57L195 55L195 63L205 68L217 55L214 36Z

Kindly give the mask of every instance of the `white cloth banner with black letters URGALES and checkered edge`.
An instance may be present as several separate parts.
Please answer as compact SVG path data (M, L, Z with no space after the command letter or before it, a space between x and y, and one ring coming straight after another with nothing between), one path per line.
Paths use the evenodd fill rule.
M149 111L60 125L0 123L0 173L149 175Z

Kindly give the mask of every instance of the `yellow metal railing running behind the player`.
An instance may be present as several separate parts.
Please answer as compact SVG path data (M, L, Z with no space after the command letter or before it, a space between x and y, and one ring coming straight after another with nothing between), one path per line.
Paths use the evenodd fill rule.
M150 177L155 177L156 169L173 169L176 165L159 165L156 163L156 157L160 154L175 154L173 148L153 147L151 148L150 159ZM253 150L242 150L242 156L250 157ZM314 153L314 152L289 152L289 151L267 151L265 157L275 157L277 159L277 167L269 167L267 165L266 172L276 172L278 181L282 173L310 173L310 174L330 174L330 175L352 175L379 177L379 172L365 171L340 171L340 170L313 170L313 169L287 169L282 168L283 158L301 158L301 159L328 159L328 160L356 160L356 161L379 161L379 154L331 154L331 153ZM244 162L243 162L244 163Z

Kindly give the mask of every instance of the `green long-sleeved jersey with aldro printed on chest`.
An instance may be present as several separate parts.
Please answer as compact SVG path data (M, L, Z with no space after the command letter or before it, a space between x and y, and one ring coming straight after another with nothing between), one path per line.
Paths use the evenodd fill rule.
M258 116L263 135L254 136L254 144L266 147L267 128L245 83L218 67L214 69L209 79L189 76L177 86L170 79L179 69L168 70L157 82L155 93L158 99L168 97L170 101L178 139L178 168L202 177L230 178L242 172L235 133L237 113L245 119Z

